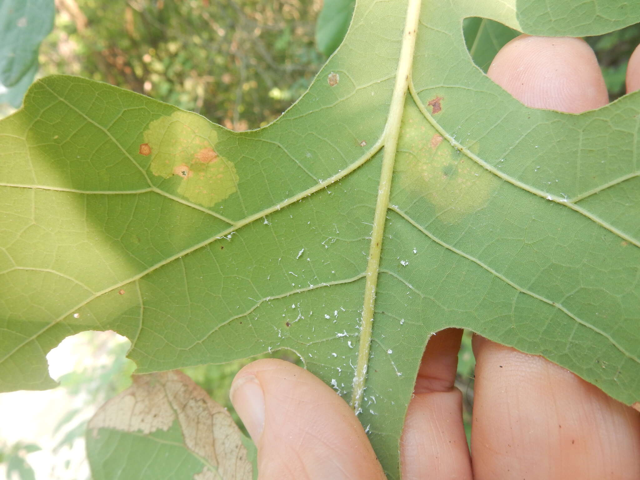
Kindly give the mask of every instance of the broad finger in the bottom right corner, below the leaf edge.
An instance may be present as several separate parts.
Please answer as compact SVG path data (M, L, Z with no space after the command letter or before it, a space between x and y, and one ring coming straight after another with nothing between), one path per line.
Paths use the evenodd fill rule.
M640 415L572 372L474 338L476 480L637 480Z

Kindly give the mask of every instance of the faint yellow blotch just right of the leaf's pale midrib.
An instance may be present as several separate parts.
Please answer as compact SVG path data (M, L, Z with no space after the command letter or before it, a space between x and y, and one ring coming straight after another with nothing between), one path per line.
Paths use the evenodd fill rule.
M422 196L447 223L484 207L500 180L451 146L408 100L396 157L397 186Z

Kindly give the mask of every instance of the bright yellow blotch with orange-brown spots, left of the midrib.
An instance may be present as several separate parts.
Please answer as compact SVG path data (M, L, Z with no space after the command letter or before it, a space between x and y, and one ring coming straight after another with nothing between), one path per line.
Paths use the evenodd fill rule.
M177 193L191 202L212 207L237 191L236 166L216 151L218 132L201 116L184 111L163 116L149 124L144 140L152 151L151 172L177 177Z

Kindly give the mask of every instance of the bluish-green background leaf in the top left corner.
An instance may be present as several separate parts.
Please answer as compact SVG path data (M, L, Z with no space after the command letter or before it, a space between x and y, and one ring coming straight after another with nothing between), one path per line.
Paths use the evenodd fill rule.
M0 0L0 103L19 107L38 72L38 49L53 28L53 0Z

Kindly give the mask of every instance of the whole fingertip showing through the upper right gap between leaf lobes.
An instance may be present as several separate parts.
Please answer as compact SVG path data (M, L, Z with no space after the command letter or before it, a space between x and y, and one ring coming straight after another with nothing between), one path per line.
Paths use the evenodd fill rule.
M595 53L581 38L520 35L487 75L526 106L581 113L609 102Z

